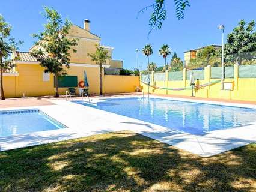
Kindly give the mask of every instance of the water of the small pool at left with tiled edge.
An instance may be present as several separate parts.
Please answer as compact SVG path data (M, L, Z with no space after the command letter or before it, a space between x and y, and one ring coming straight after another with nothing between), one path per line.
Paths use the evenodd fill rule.
M66 128L38 109L0 111L0 137Z

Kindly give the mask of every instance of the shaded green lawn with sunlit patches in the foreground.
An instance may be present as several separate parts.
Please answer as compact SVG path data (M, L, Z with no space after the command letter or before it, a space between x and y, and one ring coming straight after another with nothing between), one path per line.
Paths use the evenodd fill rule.
M256 191L256 144L203 158L122 131L0 152L0 191Z

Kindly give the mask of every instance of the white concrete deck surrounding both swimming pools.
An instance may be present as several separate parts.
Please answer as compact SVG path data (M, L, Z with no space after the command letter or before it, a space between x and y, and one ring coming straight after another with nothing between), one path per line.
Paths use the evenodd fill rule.
M250 104L221 103L217 101L190 100L185 98L159 96L151 97L256 109L255 105ZM104 100L105 98L108 97L94 98L93 100L97 102L97 100ZM124 98L124 96L121 98ZM127 116L94 109L93 107L82 106L81 104L72 103L66 100L50 100L50 102L55 103L55 105L11 107L0 110L40 109L47 115L66 125L68 128L0 137L1 151L121 130L130 130L194 154L198 154L202 157L209 157L239 146L256 142L256 122L226 130L210 131L203 136L197 136L151 124L149 122L140 121L138 119L129 118Z

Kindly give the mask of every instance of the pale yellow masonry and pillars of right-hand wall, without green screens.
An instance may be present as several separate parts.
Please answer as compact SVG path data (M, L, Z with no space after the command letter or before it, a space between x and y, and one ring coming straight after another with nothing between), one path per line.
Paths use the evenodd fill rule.
M196 97L203 98L222 98L227 100L245 100L245 101L256 101L256 78L238 78L238 67L234 67L234 78L225 79L225 82L234 82L233 91L221 90L221 82L206 86L195 90L194 94ZM186 69L183 71L183 75L186 74ZM168 74L168 73L167 73ZM167 78L168 79L168 75ZM184 78L183 78L184 79ZM204 80L199 80L199 85L203 85L209 82L215 82L216 80L221 79L210 79L210 67L204 68ZM142 88L145 92L148 92L148 86L144 83ZM189 80L180 80L180 81L168 81L168 82L152 82L151 85L159 86L162 88L185 88L190 85ZM154 89L150 88L151 93L155 94L169 94L169 95L184 95L191 96L192 90L166 90L166 89Z

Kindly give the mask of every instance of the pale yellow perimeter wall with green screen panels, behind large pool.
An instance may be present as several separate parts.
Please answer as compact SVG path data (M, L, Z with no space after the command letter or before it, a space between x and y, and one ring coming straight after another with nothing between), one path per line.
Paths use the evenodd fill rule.
M168 90L189 88L191 72L186 69L180 72L165 71L165 73L159 74L152 72L150 74L150 93L191 96L192 89ZM197 87L213 83L203 88L194 89L196 97L256 101L256 65L239 66L235 64L234 67L226 67L224 83L231 85L230 90L222 90L220 67L207 66L203 70L194 70L193 72ZM146 75L141 76L141 86L144 92L148 92L145 77Z

